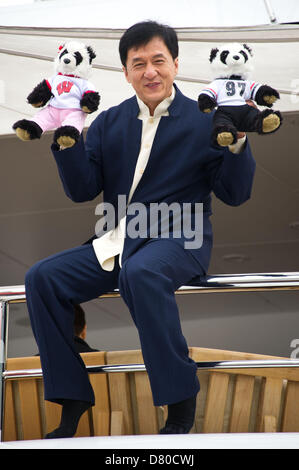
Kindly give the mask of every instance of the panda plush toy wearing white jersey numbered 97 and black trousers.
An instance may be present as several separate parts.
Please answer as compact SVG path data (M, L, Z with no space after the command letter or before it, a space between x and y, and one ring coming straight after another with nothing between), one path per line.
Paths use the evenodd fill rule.
M225 147L237 142L237 132L275 132L282 123L279 111L265 109L246 103L271 108L279 99L279 93L268 85L250 79L252 50L247 44L225 44L213 48L210 63L214 80L202 90L198 106L204 113L217 107L213 116L212 142Z

